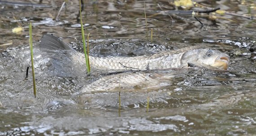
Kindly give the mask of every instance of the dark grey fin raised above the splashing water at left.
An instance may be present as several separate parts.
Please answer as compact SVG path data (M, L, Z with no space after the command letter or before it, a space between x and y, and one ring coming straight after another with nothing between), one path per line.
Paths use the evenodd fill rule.
M56 50L69 50L74 51L74 49L63 42L61 38L55 37L53 35L44 34L41 38L41 43L39 45L40 49L47 52L54 52Z

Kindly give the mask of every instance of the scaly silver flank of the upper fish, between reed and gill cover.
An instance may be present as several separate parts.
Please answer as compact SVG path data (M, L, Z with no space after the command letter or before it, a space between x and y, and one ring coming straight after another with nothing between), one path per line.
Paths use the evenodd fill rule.
M193 49L188 47L187 49ZM173 51L162 51L152 56L136 57L94 57L90 56L90 63L97 69L139 69L146 70L147 66L152 69L177 68L181 66L181 57L184 53Z

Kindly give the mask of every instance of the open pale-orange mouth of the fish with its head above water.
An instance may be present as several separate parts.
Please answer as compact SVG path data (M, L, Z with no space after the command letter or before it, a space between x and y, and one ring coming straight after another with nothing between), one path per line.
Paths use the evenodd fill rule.
M230 63L230 58L228 56L221 56L216 58L212 66L218 69L227 70L229 67L229 63Z

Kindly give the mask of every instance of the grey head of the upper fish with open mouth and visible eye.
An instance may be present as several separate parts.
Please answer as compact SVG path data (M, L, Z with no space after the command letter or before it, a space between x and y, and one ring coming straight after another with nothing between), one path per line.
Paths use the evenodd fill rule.
M217 49L191 49L186 52L184 57L188 63L199 66L212 66L217 69L227 70L230 63L228 54L222 53Z

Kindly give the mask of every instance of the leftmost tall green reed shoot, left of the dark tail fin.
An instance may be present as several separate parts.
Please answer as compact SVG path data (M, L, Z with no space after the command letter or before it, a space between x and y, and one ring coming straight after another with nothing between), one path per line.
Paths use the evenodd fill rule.
M33 44L32 44L32 24L31 24L31 23L29 23L29 46L30 46L31 65L32 65L33 90L34 90L34 96L36 97L36 89L35 89L35 70L34 70Z

